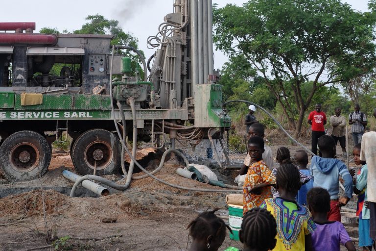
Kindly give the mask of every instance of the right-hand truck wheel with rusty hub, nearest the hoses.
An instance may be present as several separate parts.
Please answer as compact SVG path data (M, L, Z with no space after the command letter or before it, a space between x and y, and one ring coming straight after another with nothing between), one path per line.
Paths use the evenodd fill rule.
M114 133L93 129L79 136L72 149L72 162L81 175L112 174L120 166L120 142Z

